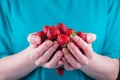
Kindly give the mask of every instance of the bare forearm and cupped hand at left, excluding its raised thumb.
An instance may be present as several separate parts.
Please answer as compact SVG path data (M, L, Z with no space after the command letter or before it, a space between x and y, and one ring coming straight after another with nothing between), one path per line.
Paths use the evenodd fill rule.
M62 51L57 51L55 55L50 58L57 47L57 42L47 40L38 47L30 45L19 53L0 59L0 80L18 80L38 66L57 68L63 65L60 60L63 56Z

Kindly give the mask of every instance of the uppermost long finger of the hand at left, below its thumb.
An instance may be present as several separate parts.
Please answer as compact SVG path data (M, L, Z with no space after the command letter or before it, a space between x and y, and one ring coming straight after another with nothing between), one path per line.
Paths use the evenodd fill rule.
M34 50L34 53L31 54L31 58L33 60L37 60L43 53L53 45L53 42L50 40L46 40L43 42L38 48Z

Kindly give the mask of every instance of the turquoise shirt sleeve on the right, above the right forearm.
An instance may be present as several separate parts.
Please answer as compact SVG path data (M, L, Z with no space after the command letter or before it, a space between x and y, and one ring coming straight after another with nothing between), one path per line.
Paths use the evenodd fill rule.
M120 0L108 1L108 24L102 55L120 58Z

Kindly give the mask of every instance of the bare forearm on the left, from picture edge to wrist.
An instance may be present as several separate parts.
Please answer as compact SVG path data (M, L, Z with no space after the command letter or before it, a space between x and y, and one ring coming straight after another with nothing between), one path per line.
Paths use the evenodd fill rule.
M30 47L12 56L0 59L0 80L16 80L24 77L36 66L29 59Z

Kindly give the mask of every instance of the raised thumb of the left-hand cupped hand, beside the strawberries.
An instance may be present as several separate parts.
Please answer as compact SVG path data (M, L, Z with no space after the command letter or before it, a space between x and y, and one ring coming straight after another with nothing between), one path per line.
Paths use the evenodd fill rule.
M35 35L35 33L29 34L27 40L33 47L36 47L38 44L42 42L41 37Z

